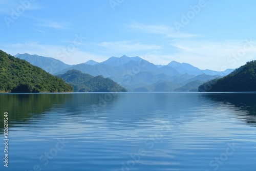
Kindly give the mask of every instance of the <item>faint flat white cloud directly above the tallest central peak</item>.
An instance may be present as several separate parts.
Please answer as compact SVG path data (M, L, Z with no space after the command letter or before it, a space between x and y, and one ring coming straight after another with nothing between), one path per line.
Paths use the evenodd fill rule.
M141 42L134 41L105 41L97 45L115 52L134 52L161 49L161 46L158 45L146 45L142 44Z

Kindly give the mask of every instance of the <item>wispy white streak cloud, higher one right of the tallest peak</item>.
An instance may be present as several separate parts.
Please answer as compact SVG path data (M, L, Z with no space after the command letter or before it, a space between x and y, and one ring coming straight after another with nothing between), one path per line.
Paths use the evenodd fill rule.
M132 24L126 26L135 30L143 31L145 33L162 34L166 37L172 38L191 38L198 36L195 34L177 32L174 27L169 27L166 25L145 25L138 22L133 22Z

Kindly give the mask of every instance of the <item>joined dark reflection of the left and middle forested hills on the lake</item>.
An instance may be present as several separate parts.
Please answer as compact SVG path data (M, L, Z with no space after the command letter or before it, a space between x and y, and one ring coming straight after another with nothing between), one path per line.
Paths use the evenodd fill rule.
M117 94L111 93L2 94L0 95L0 105L1 113L9 113L9 126L17 126L17 124L28 123L32 116L39 119L40 114L51 111L52 108L58 108L67 114L74 111L74 108L81 111L93 108L96 112L102 106L109 105L117 97ZM3 119L4 116L0 115L1 129L4 126Z

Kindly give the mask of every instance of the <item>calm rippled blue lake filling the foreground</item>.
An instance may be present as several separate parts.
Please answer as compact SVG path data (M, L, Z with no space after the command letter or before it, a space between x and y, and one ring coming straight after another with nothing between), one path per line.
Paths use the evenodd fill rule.
M0 111L0 170L256 168L256 93L1 94Z

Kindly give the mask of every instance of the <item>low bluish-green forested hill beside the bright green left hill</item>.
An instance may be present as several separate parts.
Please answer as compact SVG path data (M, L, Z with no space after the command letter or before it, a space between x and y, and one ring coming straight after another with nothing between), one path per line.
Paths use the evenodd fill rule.
M102 75L92 76L78 70L69 70L65 74L57 75L68 83L71 83L74 92L126 92L118 83Z

